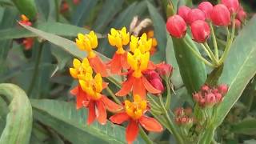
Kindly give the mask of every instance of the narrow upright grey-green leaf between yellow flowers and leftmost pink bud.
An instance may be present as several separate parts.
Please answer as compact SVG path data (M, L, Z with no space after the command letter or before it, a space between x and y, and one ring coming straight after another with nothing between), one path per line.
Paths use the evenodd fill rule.
M150 2L147 2L148 9L150 11L150 18L152 19L154 26L154 35L158 41L158 52L153 55L154 62L166 61L165 48L166 48L166 22L162 16L158 13L158 10L152 6Z

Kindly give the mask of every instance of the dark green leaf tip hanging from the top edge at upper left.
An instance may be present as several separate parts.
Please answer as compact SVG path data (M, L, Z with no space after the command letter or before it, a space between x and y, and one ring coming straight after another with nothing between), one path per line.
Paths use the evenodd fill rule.
M12 0L18 10L28 18L34 19L37 16L37 8L34 0Z

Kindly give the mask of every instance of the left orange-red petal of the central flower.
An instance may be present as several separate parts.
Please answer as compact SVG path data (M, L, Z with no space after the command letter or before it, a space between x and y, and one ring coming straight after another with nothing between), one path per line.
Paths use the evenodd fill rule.
M131 88L133 87L133 83L134 83L134 77L129 77L126 82L122 83L122 88L121 90L119 90L116 95L117 96L125 96L126 94L128 94L131 90Z

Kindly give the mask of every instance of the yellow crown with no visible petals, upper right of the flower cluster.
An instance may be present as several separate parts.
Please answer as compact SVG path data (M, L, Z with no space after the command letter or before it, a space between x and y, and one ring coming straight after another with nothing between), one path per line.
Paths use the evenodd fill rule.
M142 54L150 51L152 46L152 38L147 38L146 34L142 34L140 38L136 38L133 35L130 38L130 51L134 53L136 49L139 49Z

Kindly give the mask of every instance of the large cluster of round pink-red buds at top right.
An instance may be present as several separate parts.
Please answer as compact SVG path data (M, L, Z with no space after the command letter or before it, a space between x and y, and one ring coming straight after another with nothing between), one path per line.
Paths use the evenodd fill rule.
M246 12L239 5L238 0L222 0L216 6L210 2L201 2L198 8L194 9L180 6L178 14L168 18L166 29L174 38L183 38L186 35L188 25L193 40L203 43L210 37L210 22L215 26L230 26L233 15L236 15L234 22L239 28L241 22L246 19Z

